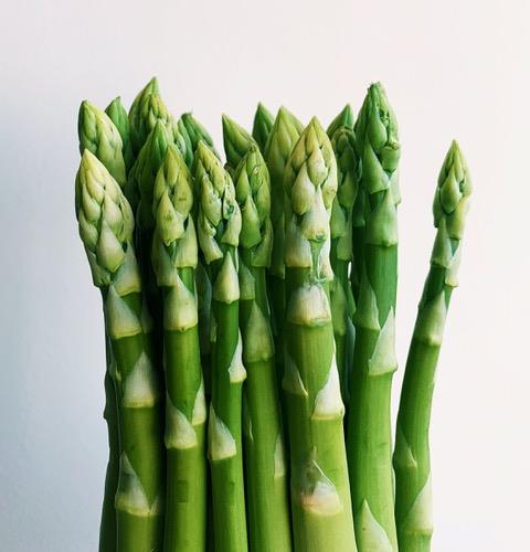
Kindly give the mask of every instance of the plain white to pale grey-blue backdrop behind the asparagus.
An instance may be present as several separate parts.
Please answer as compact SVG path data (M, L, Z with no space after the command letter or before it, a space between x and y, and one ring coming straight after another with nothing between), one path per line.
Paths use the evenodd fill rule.
M223 110L250 126L261 99L327 125L384 83L403 145L401 367L437 171L459 140L475 191L432 420L433 550L528 550L528 2L18 0L2 12L1 550L97 546L104 350L73 208L77 107L128 105L151 75L218 145Z

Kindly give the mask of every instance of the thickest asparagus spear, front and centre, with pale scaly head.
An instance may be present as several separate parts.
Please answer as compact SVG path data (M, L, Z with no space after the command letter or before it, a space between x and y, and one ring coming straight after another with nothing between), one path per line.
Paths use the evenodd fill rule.
M316 118L285 169L285 375L295 549L356 549L329 306L329 217L337 166Z

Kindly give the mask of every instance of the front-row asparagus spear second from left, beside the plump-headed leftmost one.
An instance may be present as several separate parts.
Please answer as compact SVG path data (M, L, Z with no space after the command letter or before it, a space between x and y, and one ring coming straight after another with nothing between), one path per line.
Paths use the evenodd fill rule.
M191 174L174 146L157 174L152 265L163 297L167 500L165 550L204 551L206 407L199 351Z

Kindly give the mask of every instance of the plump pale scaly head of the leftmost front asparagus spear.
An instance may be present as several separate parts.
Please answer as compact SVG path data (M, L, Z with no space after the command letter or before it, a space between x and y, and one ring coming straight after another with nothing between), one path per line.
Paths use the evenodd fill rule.
M75 212L94 285L105 288L126 264L135 222L118 183L88 149L75 180Z

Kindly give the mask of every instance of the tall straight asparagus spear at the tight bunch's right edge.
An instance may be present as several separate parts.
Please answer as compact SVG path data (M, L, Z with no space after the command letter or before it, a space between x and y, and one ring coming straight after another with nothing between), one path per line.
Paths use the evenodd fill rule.
M350 382L348 464L358 546L395 551L390 399L398 368L398 125L380 84L370 86L357 125L362 136L367 229Z

